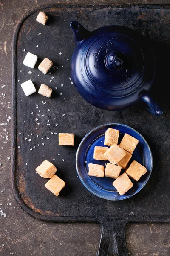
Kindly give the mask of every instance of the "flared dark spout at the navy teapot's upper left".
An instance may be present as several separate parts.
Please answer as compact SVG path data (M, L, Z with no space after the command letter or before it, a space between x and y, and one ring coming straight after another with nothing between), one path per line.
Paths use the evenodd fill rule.
M80 41L82 41L85 38L88 38L91 36L91 32L85 29L79 22L77 21L71 21L70 23L71 29L74 34L74 40L76 44L79 44Z

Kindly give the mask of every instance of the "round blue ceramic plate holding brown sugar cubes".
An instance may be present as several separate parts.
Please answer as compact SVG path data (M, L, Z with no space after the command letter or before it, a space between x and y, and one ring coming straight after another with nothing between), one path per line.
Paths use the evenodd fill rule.
M125 133L139 140L139 143L132 154L130 163L133 160L136 160L137 162L145 166L147 169L147 173L143 175L139 181L135 181L131 179L134 185L124 195L119 195L117 190L113 187L112 183L114 179L108 178L108 177L100 178L100 177L88 176L89 163L101 164L103 166L105 166L105 163L108 163L108 161L95 160L93 158L94 147L105 146L104 145L105 131L108 128L114 128L120 131L118 144L122 140L122 137L124 136ZM152 166L153 166L152 153L144 137L142 137L142 135L139 134L139 132L137 132L133 128L130 128L127 125L122 125L117 123L101 125L96 127L94 130L90 131L81 141L79 148L77 150L77 155L76 155L77 173L83 185L94 195L97 195L100 198L105 198L107 200L123 200L126 198L130 198L131 196L138 193L149 180L150 174L152 172ZM121 174L124 171L125 170L122 169Z

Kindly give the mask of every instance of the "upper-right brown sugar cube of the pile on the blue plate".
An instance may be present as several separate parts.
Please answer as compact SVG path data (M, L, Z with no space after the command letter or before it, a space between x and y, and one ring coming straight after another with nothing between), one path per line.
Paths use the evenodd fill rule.
M139 140L135 139L134 137L130 136L129 134L125 134L119 146L124 148L130 154L133 154Z

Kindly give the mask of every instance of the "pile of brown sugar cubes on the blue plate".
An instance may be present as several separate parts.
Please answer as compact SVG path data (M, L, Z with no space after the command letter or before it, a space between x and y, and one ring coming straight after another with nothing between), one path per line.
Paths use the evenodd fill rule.
M139 140L126 133L119 145L118 139L119 130L109 128L105 132L104 145L110 146L110 148L95 146L94 159L108 160L110 163L106 164L106 168L103 165L89 163L88 175L95 177L106 176L115 179L113 186L120 195L124 195L133 187L133 183L129 177L138 181L147 172L147 169L135 160L128 167L128 163ZM121 169L126 169L122 175L120 175Z

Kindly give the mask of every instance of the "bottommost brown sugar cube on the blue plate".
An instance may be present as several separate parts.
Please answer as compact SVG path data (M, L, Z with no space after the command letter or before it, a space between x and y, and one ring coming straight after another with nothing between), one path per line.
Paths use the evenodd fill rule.
M117 189L120 195L124 195L129 189L133 187L133 183L124 172L115 181L113 181L113 186Z

